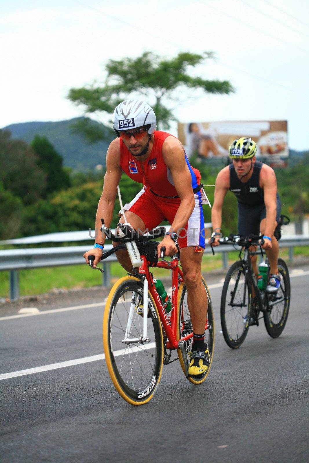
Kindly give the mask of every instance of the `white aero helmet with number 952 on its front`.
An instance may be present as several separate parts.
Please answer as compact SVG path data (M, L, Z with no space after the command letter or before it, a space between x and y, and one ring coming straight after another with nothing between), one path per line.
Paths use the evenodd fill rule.
M148 134L156 130L157 119L153 109L141 100L125 100L116 106L113 114L113 126L120 137L121 130L136 129L146 126Z

